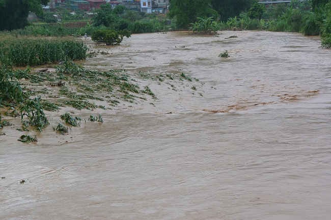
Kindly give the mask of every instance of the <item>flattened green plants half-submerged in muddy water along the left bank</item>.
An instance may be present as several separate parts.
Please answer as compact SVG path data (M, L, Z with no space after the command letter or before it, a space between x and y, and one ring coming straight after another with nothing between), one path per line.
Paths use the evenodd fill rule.
M146 76L142 78L142 76ZM141 78L140 78L141 77ZM192 79L185 73L157 75L139 74L141 80L157 80L158 83L178 82ZM45 114L47 111L58 111L62 106L70 106L81 110L96 108L109 109L123 103L134 104L142 101L156 100L155 93L148 85L143 88L138 81L127 75L125 70L93 71L87 70L65 59L54 71L47 69L32 72L15 70L9 65L0 65L0 107L5 115L20 117L20 132L42 132L50 124ZM169 83L170 84L170 83ZM183 82L181 82L183 84ZM48 89L51 87L52 89ZM175 86L171 85L170 89ZM96 104L95 102L98 102ZM154 104L153 104L154 105ZM53 130L65 134L69 127L78 127L81 118L64 113L63 120L54 125ZM89 121L103 122L101 114L91 115ZM66 125L67 124L67 125ZM0 115L0 128L9 125ZM22 142L33 142L28 135L20 139Z

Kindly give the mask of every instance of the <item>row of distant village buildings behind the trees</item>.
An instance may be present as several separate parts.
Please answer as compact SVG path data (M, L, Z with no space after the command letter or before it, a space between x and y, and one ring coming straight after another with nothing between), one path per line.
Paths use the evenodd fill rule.
M103 4L110 4L112 7L123 5L127 9L145 12L166 14L169 10L169 0L51 0L44 10L55 10L58 7L69 10L93 11L99 9Z

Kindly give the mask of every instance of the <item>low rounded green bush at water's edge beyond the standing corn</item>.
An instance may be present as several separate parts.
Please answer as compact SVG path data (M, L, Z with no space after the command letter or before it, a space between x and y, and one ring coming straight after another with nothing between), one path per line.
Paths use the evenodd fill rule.
M95 42L105 43L106 45L118 45L122 42L124 37L129 38L131 36L130 32L127 30L122 32L117 32L116 30L96 30L92 34L92 40Z

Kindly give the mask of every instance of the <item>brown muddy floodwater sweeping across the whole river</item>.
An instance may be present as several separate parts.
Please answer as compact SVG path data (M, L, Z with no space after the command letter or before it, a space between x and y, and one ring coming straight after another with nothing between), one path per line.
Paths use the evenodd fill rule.
M178 32L87 43L99 50L88 69L199 81L144 81L152 104L95 110L102 124L66 136L47 128L37 144L4 128L0 219L331 219L331 50L319 38Z

